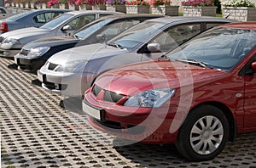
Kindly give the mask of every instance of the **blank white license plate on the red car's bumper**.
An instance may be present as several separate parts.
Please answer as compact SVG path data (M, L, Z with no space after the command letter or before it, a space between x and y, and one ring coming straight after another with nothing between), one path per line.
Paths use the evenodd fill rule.
M83 111L87 115L95 118L96 120L105 120L105 110L90 105L87 101L83 101Z

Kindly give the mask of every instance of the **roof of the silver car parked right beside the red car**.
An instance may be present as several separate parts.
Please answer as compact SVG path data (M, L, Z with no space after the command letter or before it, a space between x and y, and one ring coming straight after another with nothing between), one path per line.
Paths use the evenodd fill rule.
M191 21L226 21L226 22L236 22L237 20L230 20L230 19L225 19L225 18L218 18L218 17L184 17L184 16L175 16L175 17L164 17L164 18L157 18L157 19L152 19L154 21L158 22L163 22L163 23L171 23L171 22L177 22L177 21L182 21L182 22L191 22ZM150 21L150 20L148 20Z

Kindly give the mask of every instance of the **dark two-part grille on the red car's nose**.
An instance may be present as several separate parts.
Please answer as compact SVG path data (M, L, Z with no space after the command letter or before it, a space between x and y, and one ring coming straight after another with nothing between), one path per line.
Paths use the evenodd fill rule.
M121 98L124 98L125 95L118 94L116 92L110 92L102 89L102 87L94 86L92 88L92 93L97 97L100 92L104 92L103 100L108 102L117 103Z

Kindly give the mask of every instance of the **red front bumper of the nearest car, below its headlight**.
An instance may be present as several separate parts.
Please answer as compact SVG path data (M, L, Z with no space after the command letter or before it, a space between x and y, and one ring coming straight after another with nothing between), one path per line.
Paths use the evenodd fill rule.
M91 92L84 94L84 106L103 111L101 119L96 119L88 109L90 124L102 132L108 132L117 137L143 143L175 143L179 126L173 120L177 119L177 107L141 108L117 105L96 100ZM89 115L90 114L90 115ZM181 122L176 122L178 125Z

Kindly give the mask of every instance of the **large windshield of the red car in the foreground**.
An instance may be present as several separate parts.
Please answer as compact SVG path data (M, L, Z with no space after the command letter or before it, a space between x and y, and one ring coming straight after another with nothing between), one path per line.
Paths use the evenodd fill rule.
M166 57L172 61L231 70L256 47L256 31L218 27L196 36Z

